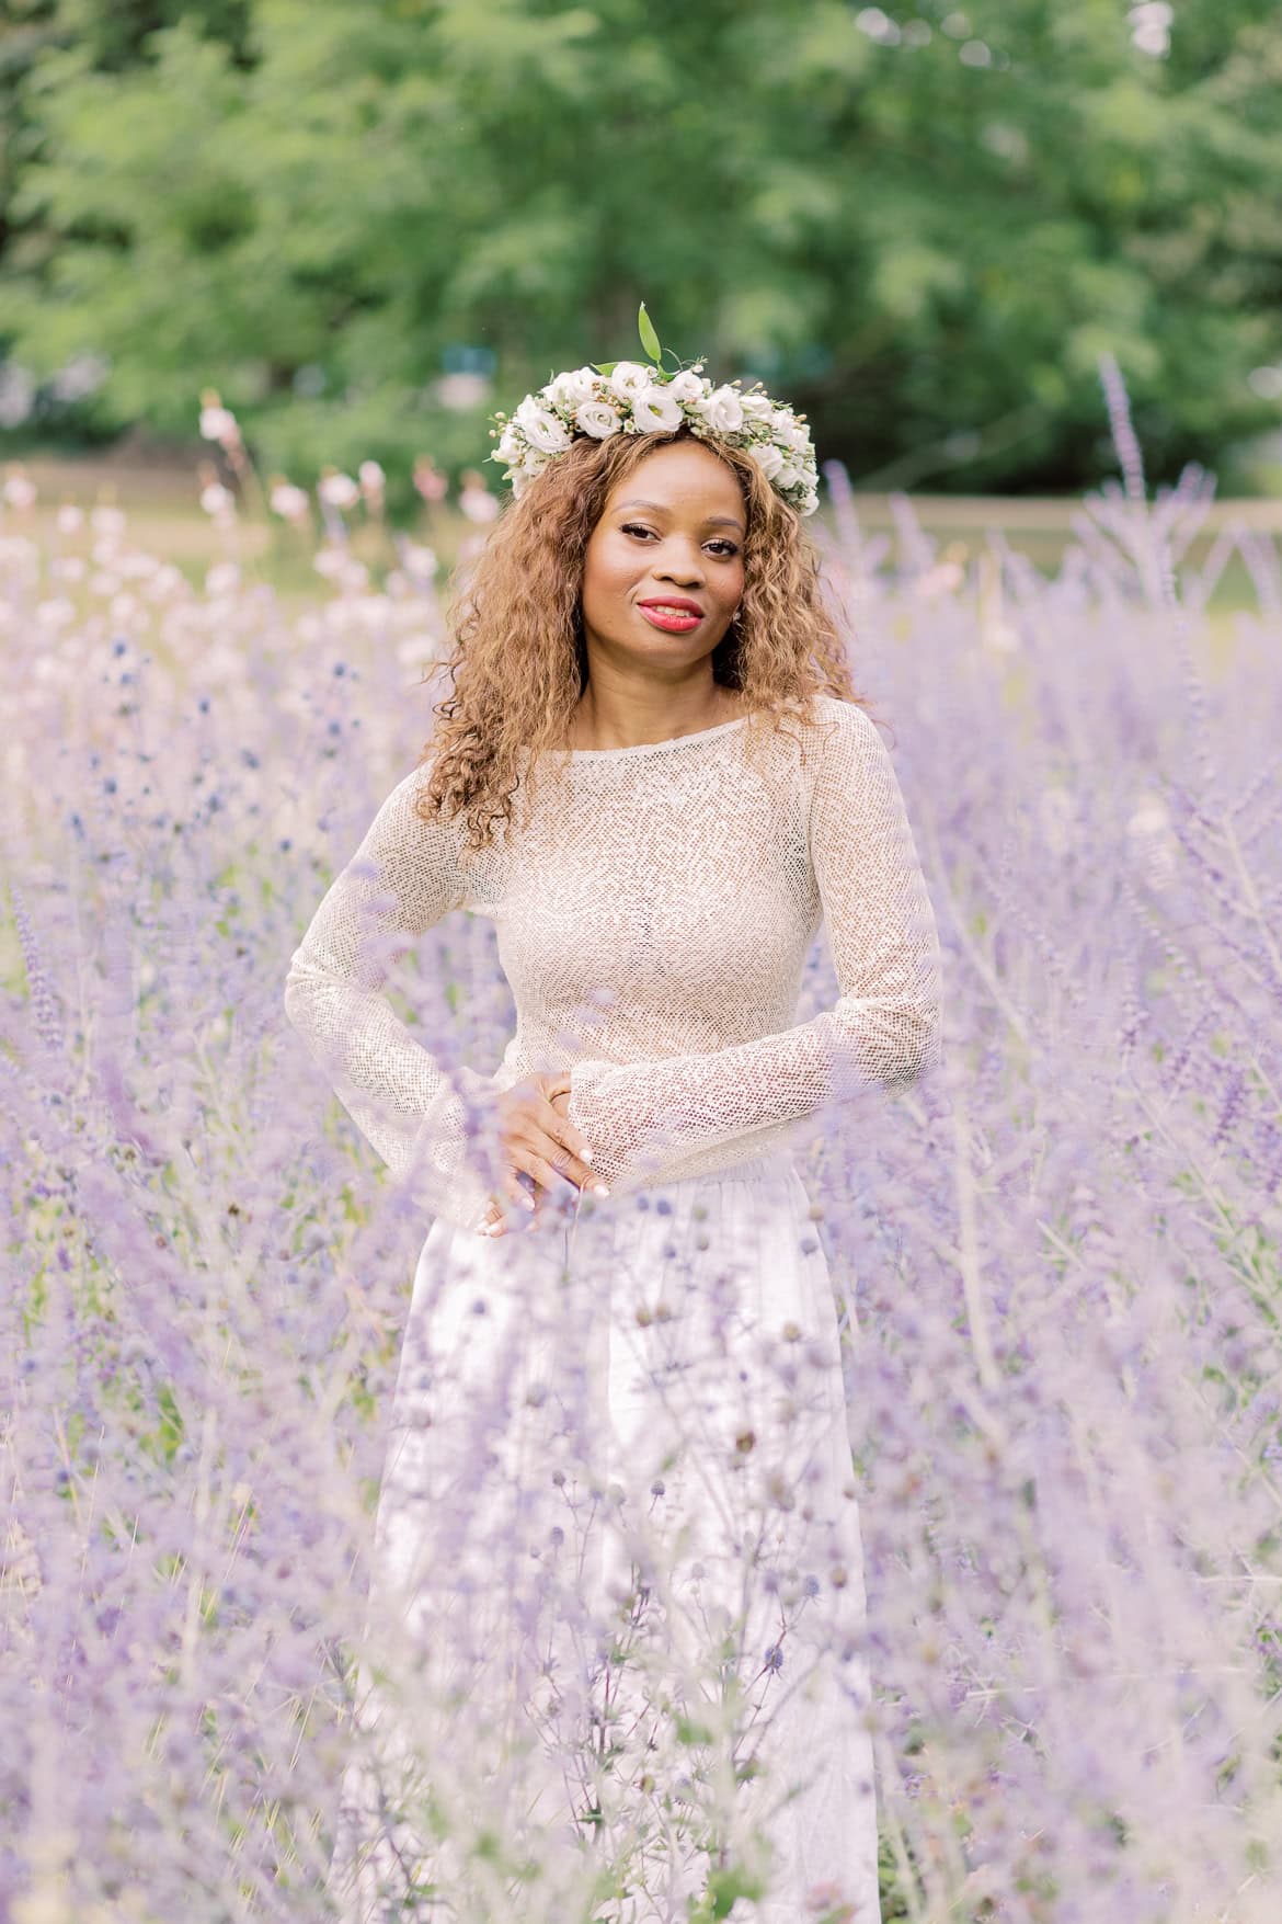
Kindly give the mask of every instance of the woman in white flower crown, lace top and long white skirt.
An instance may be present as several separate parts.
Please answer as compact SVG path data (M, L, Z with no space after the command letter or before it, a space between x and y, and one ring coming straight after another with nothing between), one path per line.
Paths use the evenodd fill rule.
M375 1532L348 1918L880 1916L838 1328L790 1156L938 1056L938 943L801 514L803 423L577 369L452 696L286 1008L434 1222ZM517 1027L448 1076L381 995L492 916ZM840 1000L794 1025L826 922ZM850 1110L846 1110L850 1116Z

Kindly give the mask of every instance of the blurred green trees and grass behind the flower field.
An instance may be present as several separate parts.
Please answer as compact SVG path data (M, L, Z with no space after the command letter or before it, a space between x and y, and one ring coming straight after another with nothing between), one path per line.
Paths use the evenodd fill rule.
M434 475L498 491L488 414L636 354L642 298L665 346L807 412L873 525L911 491L1053 566L1117 468L1111 356L1149 483L1196 462L1282 527L1274 0L0 21L0 460L177 516L181 564L202 398L263 477L377 462L407 523Z

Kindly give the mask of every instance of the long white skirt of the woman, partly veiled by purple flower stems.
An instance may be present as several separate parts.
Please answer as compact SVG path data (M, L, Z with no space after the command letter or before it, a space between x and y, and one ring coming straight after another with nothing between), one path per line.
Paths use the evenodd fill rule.
M788 1156L419 1256L344 1924L880 1924L832 1283Z

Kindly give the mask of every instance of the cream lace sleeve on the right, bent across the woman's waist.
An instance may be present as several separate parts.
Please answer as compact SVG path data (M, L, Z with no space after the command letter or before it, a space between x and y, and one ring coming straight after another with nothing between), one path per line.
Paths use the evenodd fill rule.
M900 783L876 725L832 704L809 806L809 847L840 1000L811 1022L709 1054L579 1062L569 1116L607 1181L663 1176L692 1152L792 1124L940 1056L940 949Z

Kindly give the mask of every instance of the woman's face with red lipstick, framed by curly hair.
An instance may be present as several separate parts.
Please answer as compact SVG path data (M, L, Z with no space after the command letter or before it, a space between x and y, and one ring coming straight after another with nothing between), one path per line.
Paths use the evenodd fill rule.
M582 570L588 645L659 666L711 654L744 595L738 477L698 441L655 448L619 481Z

